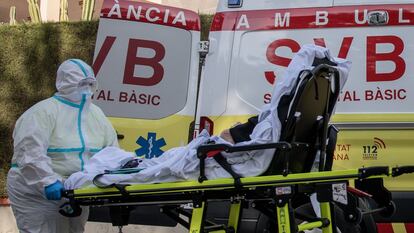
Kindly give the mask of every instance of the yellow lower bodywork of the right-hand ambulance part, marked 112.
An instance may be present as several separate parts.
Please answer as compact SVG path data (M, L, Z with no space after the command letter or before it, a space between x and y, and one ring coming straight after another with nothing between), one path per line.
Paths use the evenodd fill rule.
M210 116L214 122L214 133L231 127L237 122L246 122L254 115ZM414 114L338 114L332 123L360 122L413 122ZM370 127L370 126L367 126ZM361 166L404 166L414 164L412 155L414 129L341 129L334 157L334 170L346 170ZM385 178L390 191L414 191L414 174L398 179Z

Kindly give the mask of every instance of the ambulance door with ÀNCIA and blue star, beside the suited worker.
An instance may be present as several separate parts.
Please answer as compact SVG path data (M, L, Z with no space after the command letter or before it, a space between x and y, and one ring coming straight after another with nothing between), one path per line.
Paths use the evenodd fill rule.
M195 12L140 1L104 1L93 101L110 117L122 148L152 158L188 142L199 40Z

